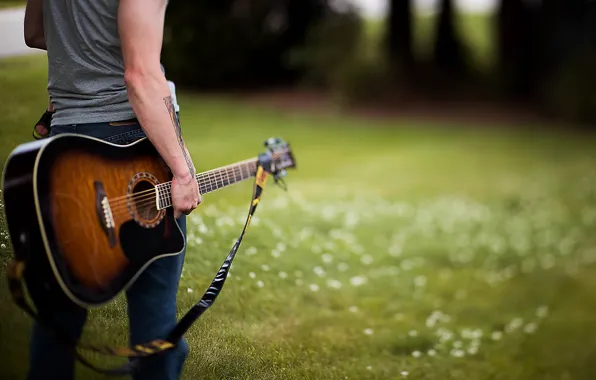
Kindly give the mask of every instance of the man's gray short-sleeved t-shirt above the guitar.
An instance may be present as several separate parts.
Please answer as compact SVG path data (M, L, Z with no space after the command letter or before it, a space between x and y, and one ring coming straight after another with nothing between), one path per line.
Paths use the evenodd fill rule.
M135 117L124 83L118 5L118 0L44 0L48 92L56 108L52 125Z

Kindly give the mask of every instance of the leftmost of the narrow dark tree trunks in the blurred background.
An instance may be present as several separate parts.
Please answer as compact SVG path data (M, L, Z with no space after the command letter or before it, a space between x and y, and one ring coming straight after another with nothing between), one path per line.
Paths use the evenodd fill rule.
M412 51L412 1L390 0L384 43L388 60L397 71L410 72L414 65Z

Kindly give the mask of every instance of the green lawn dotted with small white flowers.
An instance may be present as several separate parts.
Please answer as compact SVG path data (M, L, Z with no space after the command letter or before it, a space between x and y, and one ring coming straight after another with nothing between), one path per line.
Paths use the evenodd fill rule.
M2 160L30 140L45 72L39 56L0 62ZM265 189L223 293L188 332L185 379L596 376L594 138L179 99L200 170L277 135L298 162L287 193ZM206 196L192 215L181 314L240 232L250 191ZM22 378L30 321L4 280L0 302L0 378ZM121 298L94 310L84 340L125 342L124 310Z

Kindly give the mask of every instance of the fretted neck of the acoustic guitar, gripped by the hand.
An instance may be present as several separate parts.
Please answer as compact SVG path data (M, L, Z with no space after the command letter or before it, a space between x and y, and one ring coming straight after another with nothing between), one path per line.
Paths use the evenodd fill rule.
M196 179L202 195L247 180L254 177L256 172L257 159L253 158L199 173ZM160 183L156 192L158 209L172 206L172 182Z

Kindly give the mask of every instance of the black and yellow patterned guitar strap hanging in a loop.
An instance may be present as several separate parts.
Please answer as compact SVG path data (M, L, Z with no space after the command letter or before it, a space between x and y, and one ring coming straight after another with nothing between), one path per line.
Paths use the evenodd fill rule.
M72 349L75 358L79 360L83 365L91 368L92 370L98 373L106 375L127 375L133 373L136 369L142 366L143 363L145 363L149 357L174 348L178 341L186 333L186 331L192 326L192 324L196 322L201 317L201 315L203 315L203 313L215 302L215 299L217 298L225 284L226 278L230 270L230 266L232 265L232 261L236 256L236 252L240 247L240 243L242 242L244 234L246 233L246 230L250 225L252 216L256 211L257 205L259 204L261 194L263 192L263 188L265 186L265 183L267 182L267 177L269 174L269 172L265 168L269 167L270 158L265 154L260 155L253 188L253 196L250 203L248 216L246 218L244 228L242 229L239 238L236 240L236 243L232 247L232 250L224 260L221 268L217 272L217 275L211 282L211 285L209 286L201 300L197 302L184 315L184 317L182 317L182 319L176 324L174 329L170 332L169 336L165 340L154 340L144 344L135 345L134 347L94 346L73 341L72 339L68 338L68 334L66 334L64 331L61 331L57 326L52 326L49 323L46 323L47 321L40 318L39 315L33 310L31 305L27 302L23 287L23 273L25 271L26 266L25 259L23 259L22 257L17 257L16 255L13 258L7 275L9 289L13 301L27 314L29 314L34 320L36 320L40 325L48 328L48 330L52 332L55 335L55 337L58 338L59 341L67 345L69 349ZM93 351L104 355L126 357L129 360L126 364L117 368L99 368L90 363L87 359L85 359L77 350L77 347L78 349Z

